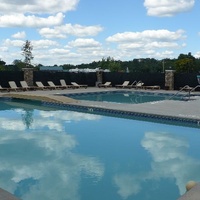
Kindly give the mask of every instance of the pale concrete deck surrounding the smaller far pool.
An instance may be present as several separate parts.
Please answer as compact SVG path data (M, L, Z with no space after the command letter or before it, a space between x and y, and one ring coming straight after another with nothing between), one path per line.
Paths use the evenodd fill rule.
M135 89L116 89L116 88L97 88L89 87L87 89L64 89L64 90L35 90L25 92L2 92L0 97L7 96L21 99L41 100L52 103L68 104L74 106L83 106L89 108L101 108L109 110L118 110L125 112L136 112L143 114L151 114L158 116L176 117L183 119L196 120L200 124L200 92L192 92L191 100L189 101L175 101L163 100L141 104L123 104L123 103L109 103L97 101L74 100L59 94L72 94L72 93L89 93L89 92L104 92L104 91L136 91ZM139 91L139 90L137 90ZM144 92L176 94L177 91L166 90L140 90ZM186 94L181 92L180 94ZM169 96L170 98L170 96Z

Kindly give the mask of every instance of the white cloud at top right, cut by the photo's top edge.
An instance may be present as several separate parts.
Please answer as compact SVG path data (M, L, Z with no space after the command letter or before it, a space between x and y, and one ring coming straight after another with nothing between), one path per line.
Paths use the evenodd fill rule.
M195 0L145 0L147 14L157 17L170 17L187 12L194 6Z

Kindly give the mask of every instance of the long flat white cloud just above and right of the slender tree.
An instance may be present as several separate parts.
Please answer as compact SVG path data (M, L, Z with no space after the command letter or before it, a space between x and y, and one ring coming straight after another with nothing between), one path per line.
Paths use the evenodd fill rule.
M69 35L77 37L95 36L101 32L101 26L82 26L79 24L65 24L54 28L42 28L39 30L41 36L46 38L66 38Z

